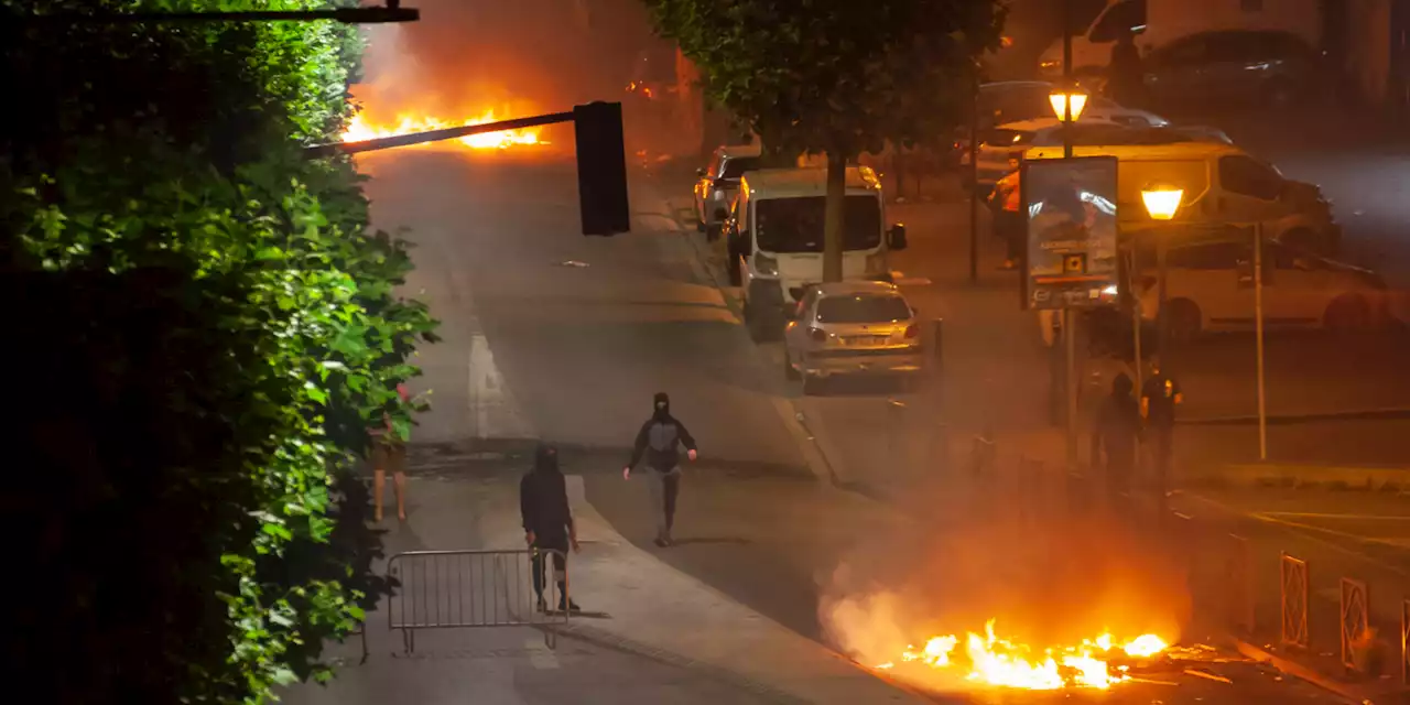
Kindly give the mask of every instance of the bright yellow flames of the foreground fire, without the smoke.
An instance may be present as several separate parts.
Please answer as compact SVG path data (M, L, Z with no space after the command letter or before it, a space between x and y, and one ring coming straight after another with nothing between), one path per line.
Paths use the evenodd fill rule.
M1107 689L1129 680L1125 666L1114 670L1108 664L1121 658L1149 658L1165 651L1169 644L1155 634L1142 634L1131 642L1117 643L1111 634L1083 640L1080 646L1046 649L1035 656L1026 644L994 636L994 620L984 625L984 636L970 632L964 639L964 653L956 654L960 639L936 636L924 649L908 647L901 660L933 668L950 668L956 661L969 668L966 678L1004 688L1052 691L1065 687ZM877 666L893 668L894 663Z

